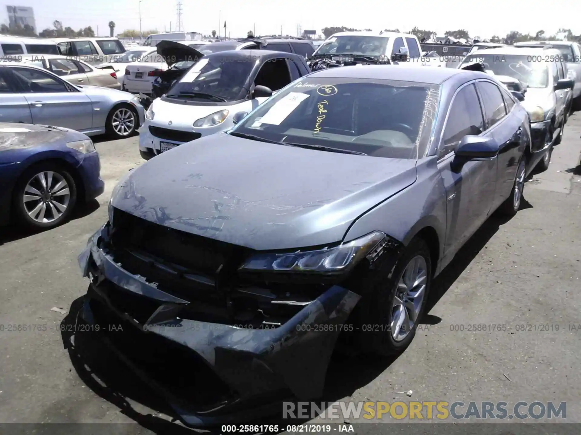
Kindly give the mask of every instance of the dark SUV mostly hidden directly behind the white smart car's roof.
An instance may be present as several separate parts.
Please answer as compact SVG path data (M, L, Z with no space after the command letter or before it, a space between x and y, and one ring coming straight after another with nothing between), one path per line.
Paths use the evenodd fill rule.
M313 42L309 39L293 37L259 37L230 39L228 41L211 42L198 48L204 55L225 50L259 50L267 49L275 52L295 53L309 57L315 51Z

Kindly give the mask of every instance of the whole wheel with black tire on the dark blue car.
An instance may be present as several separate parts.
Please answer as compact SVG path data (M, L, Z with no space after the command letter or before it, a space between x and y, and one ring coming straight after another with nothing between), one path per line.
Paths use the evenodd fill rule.
M76 203L74 178L55 162L40 162L26 169L16 182L13 194L16 223L34 230L67 222Z

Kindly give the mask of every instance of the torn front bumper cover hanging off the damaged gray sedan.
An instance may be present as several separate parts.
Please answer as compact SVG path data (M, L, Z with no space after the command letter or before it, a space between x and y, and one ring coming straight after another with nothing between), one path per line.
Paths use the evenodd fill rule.
M342 329L339 325L346 322L359 295L333 285L272 329L188 320L180 316L189 305L188 300L157 289L155 283L129 273L114 261L107 249L109 232L107 223L92 235L78 257L83 276L91 280L80 317L89 324L101 325L101 331L110 330L106 323L124 322L123 333L109 335L131 333L135 340L144 339L149 343L149 348L141 349L144 354L159 343L173 346L182 354L192 354L213 372L216 383L221 383L227 394L209 407L196 407L163 383L157 383L135 360L125 356L124 345L116 345L105 337L105 332L99 333L132 371L164 397L185 425L211 426L257 418L273 411L274 394L299 400L322 395L329 359ZM146 321L135 320L113 302L120 297L132 298L131 303L150 303L151 316ZM131 331L126 331L125 323L132 325L127 328ZM131 340L135 343L134 338ZM196 370L192 368L192 375Z

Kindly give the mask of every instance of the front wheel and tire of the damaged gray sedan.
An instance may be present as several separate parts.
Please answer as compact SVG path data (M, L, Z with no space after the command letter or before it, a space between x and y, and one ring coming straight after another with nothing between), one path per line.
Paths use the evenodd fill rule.
M388 257L386 255L386 257ZM389 259L386 259L389 261ZM379 259L381 262L381 259ZM409 286L403 290L404 285L411 282L411 276L406 278L406 274L413 267L414 262L419 269L415 275L422 274L421 295L414 291L415 298L411 298ZM425 241L415 238L404 248L395 266L389 267L390 263L383 262L385 266L379 264L377 269L370 270L363 278L363 290L361 291L361 306L358 313L357 322L359 324L358 341L364 353L372 353L379 356L393 356L406 350L414 339L418 321L424 315L426 300L428 299L429 288L432 283L432 262L431 255ZM421 271L423 271L421 273ZM412 270L414 274L414 270ZM417 277L414 277L417 282ZM406 284L406 285L407 285ZM418 289L418 286L415 287ZM407 299L400 296L400 292L407 295ZM396 299L398 297L398 299ZM415 299L415 305L413 300ZM403 304L397 303L408 301L407 308ZM410 304L411 302L411 304ZM412 308L413 307L413 308ZM397 328L395 321L397 314L401 313L404 325L408 327ZM407 317L406 317L407 314ZM412 316L410 316L412 314ZM406 323L405 319L414 317L412 322Z

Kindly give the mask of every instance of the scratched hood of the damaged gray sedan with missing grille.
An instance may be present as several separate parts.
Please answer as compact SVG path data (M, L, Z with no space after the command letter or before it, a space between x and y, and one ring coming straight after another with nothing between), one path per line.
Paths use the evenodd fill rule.
M218 133L129 172L113 190L112 205L150 222L252 249L291 249L342 240L358 216L416 177L415 160Z

